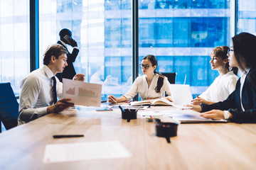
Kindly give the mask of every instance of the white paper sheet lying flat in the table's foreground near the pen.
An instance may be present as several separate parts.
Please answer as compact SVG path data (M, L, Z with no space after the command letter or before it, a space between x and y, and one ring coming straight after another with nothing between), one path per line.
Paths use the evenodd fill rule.
M132 157L119 141L46 145L43 162L73 162Z

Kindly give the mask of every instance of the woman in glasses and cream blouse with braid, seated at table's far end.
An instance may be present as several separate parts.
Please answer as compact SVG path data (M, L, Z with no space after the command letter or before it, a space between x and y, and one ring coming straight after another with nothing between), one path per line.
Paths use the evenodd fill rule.
M165 92L168 95L166 99L171 100L171 91L169 87L169 81L167 77L156 72L157 60L154 55L147 55L143 58L142 64L139 64L142 68L143 76L137 77L132 84L132 88L123 96L116 98L112 95L108 96L110 103L129 101L139 93L142 100L151 98L161 98L165 96Z

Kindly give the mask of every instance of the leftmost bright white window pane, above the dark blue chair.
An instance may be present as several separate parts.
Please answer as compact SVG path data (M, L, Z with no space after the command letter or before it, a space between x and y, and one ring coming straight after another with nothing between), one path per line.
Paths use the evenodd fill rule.
M29 1L0 1L0 82L10 82L15 94L30 72Z

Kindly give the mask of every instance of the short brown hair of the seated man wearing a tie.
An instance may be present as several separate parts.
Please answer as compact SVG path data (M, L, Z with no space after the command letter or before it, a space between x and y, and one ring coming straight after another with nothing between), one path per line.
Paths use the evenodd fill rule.
M46 52L43 54L43 64L48 65L52 55L58 59L58 57L63 54L68 54L68 51L65 49L65 47L59 44L50 45L47 47Z

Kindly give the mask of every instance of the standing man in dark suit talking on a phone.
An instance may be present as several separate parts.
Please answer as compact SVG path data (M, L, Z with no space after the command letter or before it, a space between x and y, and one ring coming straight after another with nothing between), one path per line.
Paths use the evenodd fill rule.
M63 73L56 74L56 77L62 82L62 79L73 79L75 76L75 68L73 66L73 62L75 62L76 57L78 56L78 43L72 38L72 33L67 28L60 30L60 40L58 40L57 44L63 45L65 49L68 51L67 45L71 45L73 47L73 52L68 52L68 66L65 67Z

